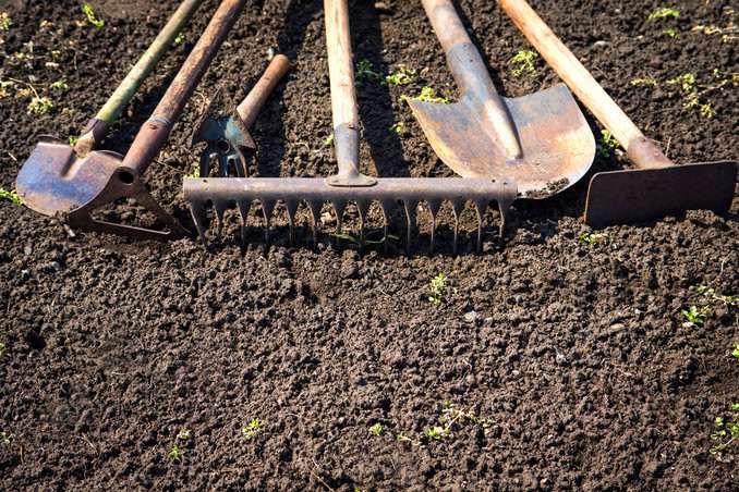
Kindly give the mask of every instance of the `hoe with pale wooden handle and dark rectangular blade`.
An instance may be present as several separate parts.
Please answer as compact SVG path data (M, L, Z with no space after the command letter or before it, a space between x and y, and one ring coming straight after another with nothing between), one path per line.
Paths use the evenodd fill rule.
M728 211L736 161L676 165L646 138L524 0L498 0L516 25L580 100L626 149L635 169L601 172L587 190L593 227L649 221L691 209Z

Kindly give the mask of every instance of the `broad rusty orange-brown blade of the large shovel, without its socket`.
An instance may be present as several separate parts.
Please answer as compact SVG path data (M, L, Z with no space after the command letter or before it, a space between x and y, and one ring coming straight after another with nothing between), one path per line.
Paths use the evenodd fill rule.
M521 196L546 198L587 172L595 138L565 85L502 100L521 145L519 159L507 156L478 97L465 95L453 104L409 102L437 156L463 177L511 179Z

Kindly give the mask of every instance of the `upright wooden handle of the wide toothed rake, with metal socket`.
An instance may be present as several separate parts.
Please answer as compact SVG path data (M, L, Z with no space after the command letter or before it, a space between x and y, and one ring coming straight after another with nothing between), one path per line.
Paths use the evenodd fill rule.
M354 89L354 61L347 0L324 0L328 74L331 79L334 145L339 174L360 174L360 116Z

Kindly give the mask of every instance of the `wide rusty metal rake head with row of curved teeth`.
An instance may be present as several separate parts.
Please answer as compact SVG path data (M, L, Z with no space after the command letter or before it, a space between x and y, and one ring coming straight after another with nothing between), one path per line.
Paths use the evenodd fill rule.
M500 237L505 229L508 209L518 196L512 181L484 179L414 179L383 177L373 186L342 187L330 185L323 177L250 177L250 179L185 179L184 197L197 231L206 243L205 231L208 227L208 208L213 207L220 232L226 210L237 208L242 221L242 241L245 242L245 227L253 202L258 201L265 221L265 239L269 241L270 220L275 208L282 204L288 212L290 242L294 241L295 213L301 202L307 205L313 218L313 241L317 242L320 210L324 204L330 204L337 218L337 229L341 231L341 218L350 201L356 204L360 214L360 245L364 244L364 227L370 207L378 202L384 216L384 241L387 245L389 218L399 202L405 211L407 250L412 245L412 230L416 221L416 208L425 201L431 212L431 248L434 249L436 216L441 204L451 204L455 214L455 243L457 251L459 219L468 201L472 201L477 214L477 250L482 249L483 217L492 201L500 210Z

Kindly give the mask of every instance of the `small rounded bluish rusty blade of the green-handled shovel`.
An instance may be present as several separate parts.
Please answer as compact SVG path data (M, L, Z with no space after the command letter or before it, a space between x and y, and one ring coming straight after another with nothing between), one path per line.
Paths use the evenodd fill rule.
M120 161L113 152L99 151L81 159L66 143L45 138L23 163L15 187L34 211L71 212L102 192Z

